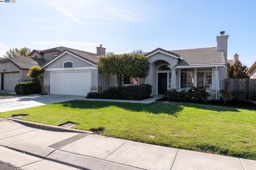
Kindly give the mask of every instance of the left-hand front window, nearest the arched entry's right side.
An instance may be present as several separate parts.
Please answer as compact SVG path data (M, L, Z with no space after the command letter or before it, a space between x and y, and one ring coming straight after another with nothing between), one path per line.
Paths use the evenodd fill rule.
M194 69L181 69L180 70L180 88L190 89L194 86Z

